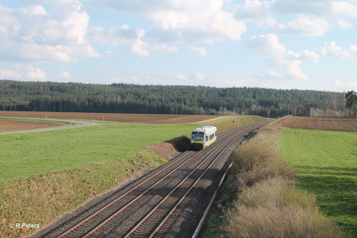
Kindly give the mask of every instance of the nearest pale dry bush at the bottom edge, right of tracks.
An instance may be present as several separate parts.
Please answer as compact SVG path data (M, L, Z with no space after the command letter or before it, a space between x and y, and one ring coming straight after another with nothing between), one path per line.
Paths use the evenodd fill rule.
M319 213L315 197L297 191L282 178L247 188L225 214L226 237L343 237L338 227Z

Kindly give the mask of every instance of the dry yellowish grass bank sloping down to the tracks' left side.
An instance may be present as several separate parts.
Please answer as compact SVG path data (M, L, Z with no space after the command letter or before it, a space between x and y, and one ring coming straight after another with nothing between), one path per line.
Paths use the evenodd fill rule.
M78 207L96 194L107 191L142 169L156 168L166 161L143 150L129 157L85 164L62 173L32 176L0 187L0 237L21 237L35 231L10 228L10 223L45 224Z

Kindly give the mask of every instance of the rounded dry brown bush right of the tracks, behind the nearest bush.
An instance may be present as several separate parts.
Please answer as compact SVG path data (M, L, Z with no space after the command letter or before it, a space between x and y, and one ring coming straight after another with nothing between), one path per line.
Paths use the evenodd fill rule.
M239 146L232 156L233 189L242 189L265 179L281 176L293 178L295 173L269 143L253 140Z

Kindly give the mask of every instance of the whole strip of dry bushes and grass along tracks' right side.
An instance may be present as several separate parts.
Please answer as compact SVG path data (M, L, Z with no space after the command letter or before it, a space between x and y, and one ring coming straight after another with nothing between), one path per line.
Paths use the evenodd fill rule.
M291 180L294 169L279 151L281 130L267 126L233 153L217 203L223 210L211 215L204 237L343 237L320 212L315 195Z

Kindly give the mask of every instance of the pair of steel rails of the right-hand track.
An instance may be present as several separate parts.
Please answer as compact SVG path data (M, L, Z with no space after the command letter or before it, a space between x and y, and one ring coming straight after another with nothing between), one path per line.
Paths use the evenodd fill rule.
M187 196L187 194L191 191L191 189L198 183L198 181L200 181L200 179L202 178L202 176L208 171L208 169L211 168L211 166L213 165L213 163L218 159L218 157L233 143L235 142L240 136L242 136L244 133L246 133L248 130L250 130L251 128L257 127L257 125L251 126L249 128L245 128L244 131L242 132L238 132L240 133L240 135L237 136L233 135L232 137L230 137L228 140L230 140L233 137L236 137L232 142L230 142L226 148L224 148L219 154L218 156L216 156L216 158L210 163L210 165L206 168L206 170L201 174L201 176L196 180L196 182L191 186L191 188L185 193L185 195L180 199L180 201L176 204L176 206L171 210L171 212L169 212L169 214L164 218L164 220L160 223L160 225L155 229L155 231L150 235L150 237L154 236L154 234L160 229L160 227L162 226L162 224L165 223L165 221L167 220L167 218L169 218L169 216L175 211L175 209L177 208L177 206L183 201L183 199ZM228 141L227 140L227 141ZM227 142L226 141L226 142ZM218 150L218 148L220 148L221 146L223 146L226 142L222 143L222 145L220 145L219 147L216 148L215 151ZM162 201L157 204L157 206L152 209L151 212L149 212L129 233L127 233L127 235L125 236L125 238L128 238L132 233L134 233L136 231L137 228L139 228L145 221L147 218L149 218L165 201L167 201L167 199L172 195L172 193L174 193L178 187L181 186L181 184L183 184L185 181L187 181L187 179L209 158L213 155L213 153L215 152L213 151L212 153L210 153L210 155L208 155L190 174L188 174L188 176L183 179L164 199L162 199Z

